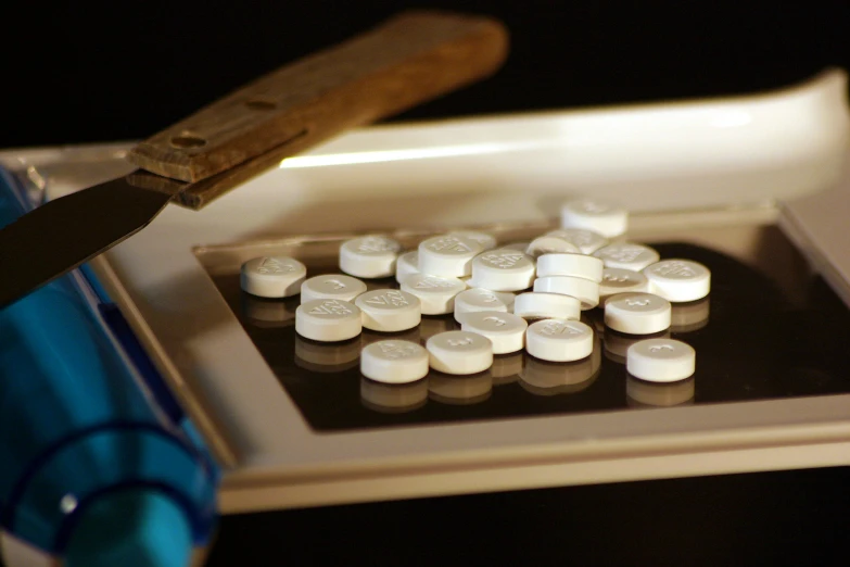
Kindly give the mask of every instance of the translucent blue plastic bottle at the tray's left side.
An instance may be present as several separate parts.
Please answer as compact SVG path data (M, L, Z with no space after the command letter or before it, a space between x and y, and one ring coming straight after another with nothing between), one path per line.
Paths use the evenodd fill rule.
M0 226L23 207L0 177ZM0 524L69 567L185 566L210 541L219 471L79 281L0 310Z

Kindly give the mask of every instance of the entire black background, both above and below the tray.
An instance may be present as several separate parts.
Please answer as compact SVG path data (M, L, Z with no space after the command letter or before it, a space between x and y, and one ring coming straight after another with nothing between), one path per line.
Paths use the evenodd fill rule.
M409 7L502 18L498 75L401 118L754 92L850 68L850 2L25 2L0 148L143 138ZM55 4L55 5L53 5ZM211 564L849 565L847 468L228 517Z

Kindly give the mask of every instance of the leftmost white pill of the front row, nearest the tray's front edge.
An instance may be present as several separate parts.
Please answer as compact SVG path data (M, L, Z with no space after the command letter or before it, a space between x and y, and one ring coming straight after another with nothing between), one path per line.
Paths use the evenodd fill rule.
M410 341L386 340L360 352L360 374L383 383L409 383L428 375L428 351Z

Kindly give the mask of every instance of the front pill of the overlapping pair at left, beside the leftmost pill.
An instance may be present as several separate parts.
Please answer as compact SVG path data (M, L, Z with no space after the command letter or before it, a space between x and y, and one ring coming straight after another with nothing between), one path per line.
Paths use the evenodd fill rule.
M361 330L360 310L347 301L313 300L295 310L295 332L314 341L344 341Z

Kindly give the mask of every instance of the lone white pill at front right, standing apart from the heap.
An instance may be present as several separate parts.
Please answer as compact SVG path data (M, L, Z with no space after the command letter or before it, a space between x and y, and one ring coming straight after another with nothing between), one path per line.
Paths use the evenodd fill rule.
M674 382L693 376L696 351L682 341L649 339L629 348L625 367L635 378L649 382Z

